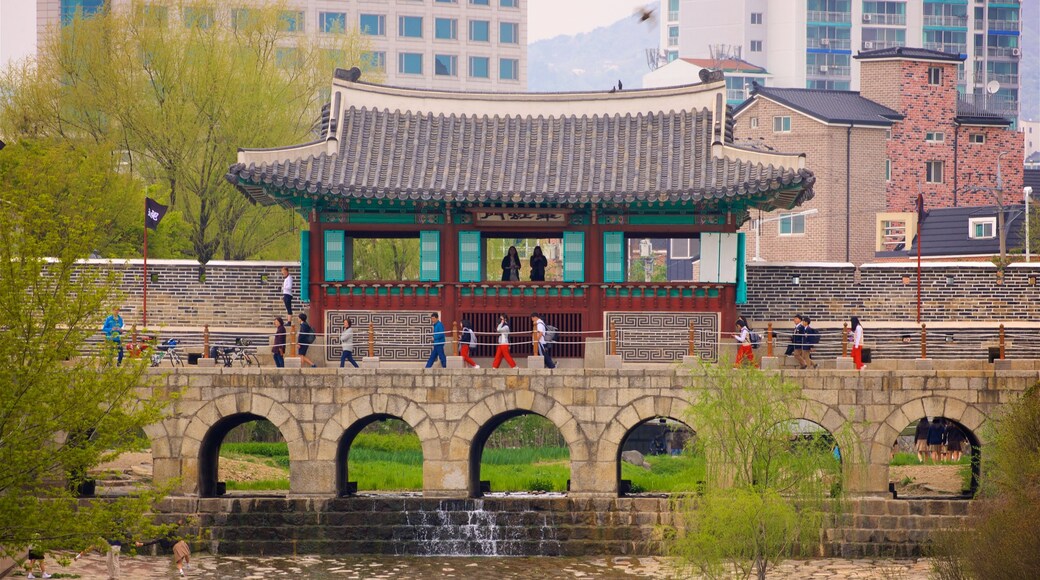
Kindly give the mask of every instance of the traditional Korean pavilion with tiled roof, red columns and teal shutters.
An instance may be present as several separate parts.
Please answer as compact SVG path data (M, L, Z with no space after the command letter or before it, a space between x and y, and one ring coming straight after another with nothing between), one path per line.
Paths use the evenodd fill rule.
M713 358L743 297L737 229L751 209L812 196L804 155L730 144L721 73L696 85L562 94L421 90L360 76L336 71L316 141L240 150L227 177L257 203L307 217L302 297L319 331L347 317L357 328L371 322L376 351L362 340L361 354L424 359L431 312L449 329L468 318L478 332L494 331L499 314L526 332L539 312L584 337L602 339L613 323L630 360L681 357L693 322L698 349ZM353 241L371 237L418 238L418 280L354 280ZM647 237L699 239L697 280L629 282L626 240ZM500 282L484 265L497 238L562 240L562 276ZM582 354L579 336L563 341L558 355Z

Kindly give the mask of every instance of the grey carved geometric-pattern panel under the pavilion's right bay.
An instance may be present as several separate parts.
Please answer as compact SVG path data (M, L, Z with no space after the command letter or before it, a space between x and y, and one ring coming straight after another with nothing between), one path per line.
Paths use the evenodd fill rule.
M688 349L690 323L694 348L705 361L719 360L717 312L606 312L606 327L618 329L618 354L632 363L681 361Z

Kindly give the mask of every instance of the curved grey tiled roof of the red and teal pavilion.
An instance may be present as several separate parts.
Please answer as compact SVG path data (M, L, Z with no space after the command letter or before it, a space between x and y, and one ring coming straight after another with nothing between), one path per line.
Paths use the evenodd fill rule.
M228 180L263 204L293 194L508 203L745 197L762 209L811 199L815 180L798 167L717 158L708 110L489 117L349 106L337 121L335 153L237 163Z

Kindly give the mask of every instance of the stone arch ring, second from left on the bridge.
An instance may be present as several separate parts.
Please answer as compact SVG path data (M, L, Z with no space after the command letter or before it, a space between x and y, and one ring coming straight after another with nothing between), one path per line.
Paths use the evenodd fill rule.
M356 397L326 421L318 434L315 459L335 462L337 495L344 495L347 491L347 459L354 439L368 425L384 419L400 419L418 436L422 446L423 472L430 462L441 458L441 436L437 425L418 403L397 395Z

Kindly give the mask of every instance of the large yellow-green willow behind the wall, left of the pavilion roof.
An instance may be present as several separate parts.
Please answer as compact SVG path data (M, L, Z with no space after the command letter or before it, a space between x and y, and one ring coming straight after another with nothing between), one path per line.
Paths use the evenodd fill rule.
M75 19L0 85L8 139L120 151L130 170L163 186L202 263L255 256L297 225L251 205L224 176L237 148L310 140L334 69L366 62L357 31L306 35L303 14L285 4L223 6L135 2Z

